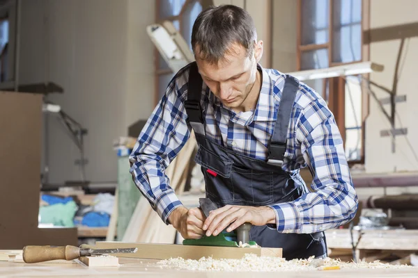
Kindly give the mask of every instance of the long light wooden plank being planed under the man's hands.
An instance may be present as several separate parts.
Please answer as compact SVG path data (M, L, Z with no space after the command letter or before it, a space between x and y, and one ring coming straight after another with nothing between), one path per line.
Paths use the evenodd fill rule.
M120 243L98 241L97 248L129 248L137 247L136 253L115 254L115 256L141 259L170 259L181 257L183 259L199 260L203 256L212 256L213 259L241 259L245 254L258 256L282 256L281 248L251 248L251 247L214 247L192 246L179 244L156 244L156 243Z

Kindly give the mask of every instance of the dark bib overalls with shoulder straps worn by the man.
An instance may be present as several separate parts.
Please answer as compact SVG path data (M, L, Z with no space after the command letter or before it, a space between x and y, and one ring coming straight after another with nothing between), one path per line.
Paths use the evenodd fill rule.
M201 165L205 177L206 197L218 207L226 204L266 206L290 202L309 192L300 174L291 176L281 169L298 86L296 79L287 76L268 161L262 161L233 152L206 138L200 106L202 79L196 63L191 64L185 106L199 145L195 161ZM253 226L250 240L256 241L261 247L283 248L283 256L288 260L326 256L325 234L322 231L315 234L286 234L267 225Z

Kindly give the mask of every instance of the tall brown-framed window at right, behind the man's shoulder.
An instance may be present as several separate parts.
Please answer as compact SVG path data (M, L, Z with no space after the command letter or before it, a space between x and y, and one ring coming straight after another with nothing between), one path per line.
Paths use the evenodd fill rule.
M298 0L297 68L314 70L366 60L362 45L364 1ZM364 161L364 101L359 76L305 83L327 101L349 162Z

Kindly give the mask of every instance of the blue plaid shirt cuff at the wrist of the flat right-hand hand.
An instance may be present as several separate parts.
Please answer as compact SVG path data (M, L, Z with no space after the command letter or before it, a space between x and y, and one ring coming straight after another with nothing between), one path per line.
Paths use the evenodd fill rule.
M297 233L302 228L299 209L293 203L273 204L269 206L276 213L276 229L281 233ZM272 226L270 226L272 227Z

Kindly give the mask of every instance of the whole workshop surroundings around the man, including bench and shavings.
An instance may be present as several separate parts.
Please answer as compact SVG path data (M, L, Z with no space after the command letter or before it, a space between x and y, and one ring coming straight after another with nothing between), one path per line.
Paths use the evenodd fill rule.
M184 238L132 179L139 135L173 76L195 62L196 18L222 5L251 15L258 63L313 88L338 126L358 208L324 225L322 259L286 260L252 240L247 222ZM417 10L416 0L1 0L0 276L39 267L44 277L417 277ZM165 173L206 219L219 208L207 174L222 172L203 173L200 154L192 134Z

